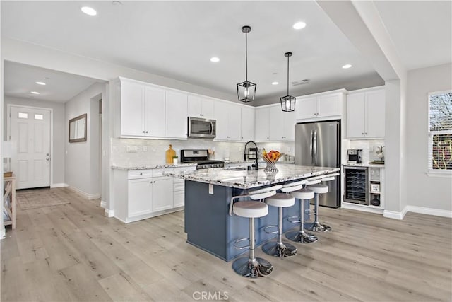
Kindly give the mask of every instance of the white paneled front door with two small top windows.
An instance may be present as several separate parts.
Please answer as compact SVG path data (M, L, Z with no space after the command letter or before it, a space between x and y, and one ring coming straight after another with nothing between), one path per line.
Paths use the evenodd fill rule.
M11 170L16 188L50 186L50 110L11 106Z

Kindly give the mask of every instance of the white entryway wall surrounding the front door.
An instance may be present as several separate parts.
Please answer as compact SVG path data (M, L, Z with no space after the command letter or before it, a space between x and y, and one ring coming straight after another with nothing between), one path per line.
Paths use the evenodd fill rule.
M53 185L64 184L64 146L66 141L66 120L64 118L64 103L49 102L45 100L34 100L30 98L13 98L11 96L4 96L4 137L6 140L7 129L7 115L8 104L32 106L37 108L50 108L53 110L53 151L51 151L53 170L52 182Z

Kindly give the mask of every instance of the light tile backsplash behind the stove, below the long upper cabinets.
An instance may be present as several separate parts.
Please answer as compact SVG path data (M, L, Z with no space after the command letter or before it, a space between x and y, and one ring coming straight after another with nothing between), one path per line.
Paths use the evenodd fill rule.
M172 149L180 157L181 149L211 149L215 151L212 159L242 161L244 142L213 141L211 139L119 139L112 138L111 165L135 167L137 165L159 165L165 163L165 151L172 144ZM127 152L132 149L134 152ZM258 143L258 149L278 150L294 155L294 142Z

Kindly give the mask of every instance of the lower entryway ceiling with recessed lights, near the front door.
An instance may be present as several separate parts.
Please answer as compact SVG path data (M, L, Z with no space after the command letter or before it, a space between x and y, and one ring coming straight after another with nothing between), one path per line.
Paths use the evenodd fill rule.
M15 98L33 98L65 103L84 91L93 83L100 82L84 76L66 74L60 71L18 64L6 61L4 64L4 94ZM36 82L46 83L45 86ZM32 94L31 91L40 93Z

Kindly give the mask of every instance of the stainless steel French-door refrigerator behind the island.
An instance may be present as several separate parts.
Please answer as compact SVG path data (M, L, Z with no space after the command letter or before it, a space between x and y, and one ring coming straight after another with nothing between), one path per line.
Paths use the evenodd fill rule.
M340 167L340 121L295 125L295 165ZM330 188L320 194L319 205L340 207L340 177L325 182Z

